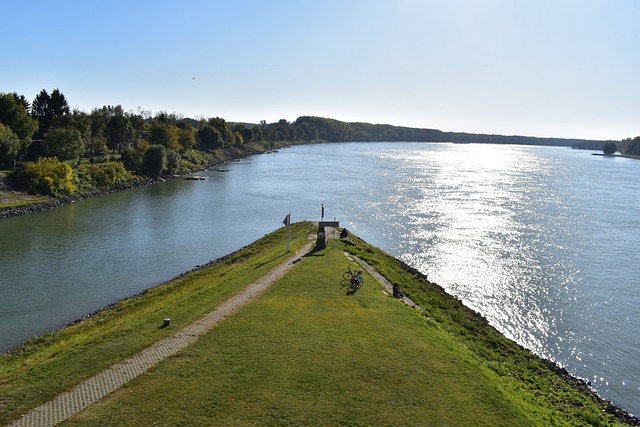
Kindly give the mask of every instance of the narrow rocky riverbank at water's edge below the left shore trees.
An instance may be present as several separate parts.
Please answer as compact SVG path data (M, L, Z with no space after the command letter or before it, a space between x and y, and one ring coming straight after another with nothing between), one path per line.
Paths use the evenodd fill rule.
M117 191L130 190L133 188L161 182L165 179L171 179L175 176L182 177L190 173L198 172L203 168L208 169L216 167L233 160L242 159L256 154L264 154L273 149L280 149L289 145L291 145L291 142L282 141L273 143L272 146L269 147L253 143L221 148L210 153L210 160L204 166L185 169L171 176L162 176L157 178L136 177L136 179L128 181L127 183L121 183L111 187L99 188L77 194L64 195L56 198L44 195L30 195L22 193L20 191L16 191L15 189L11 188L11 186L7 182L7 175L0 174L0 219L20 215L29 215L37 212L44 212L90 197L102 196Z

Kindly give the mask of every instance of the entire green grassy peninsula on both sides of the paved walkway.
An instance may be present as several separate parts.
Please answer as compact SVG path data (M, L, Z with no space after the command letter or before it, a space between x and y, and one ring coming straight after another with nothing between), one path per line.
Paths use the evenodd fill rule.
M315 231L292 225L292 251ZM613 426L612 407L366 242L330 241L257 300L63 425ZM0 359L0 423L203 317L283 263L279 229ZM365 260L424 308L364 286ZM353 266L353 265L352 265ZM160 328L162 319L172 319ZM633 420L632 420L633 421Z

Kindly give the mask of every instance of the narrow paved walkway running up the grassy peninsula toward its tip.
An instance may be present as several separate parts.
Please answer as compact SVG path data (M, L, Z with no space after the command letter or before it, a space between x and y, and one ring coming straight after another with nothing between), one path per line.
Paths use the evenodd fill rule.
M221 303L204 318L191 323L176 334L156 342L129 359L111 366L73 389L58 395L53 400L32 409L9 426L54 426L122 387L163 359L194 343L200 335L210 331L238 308L255 299L308 253L312 243L308 243L299 254L290 257L239 294Z

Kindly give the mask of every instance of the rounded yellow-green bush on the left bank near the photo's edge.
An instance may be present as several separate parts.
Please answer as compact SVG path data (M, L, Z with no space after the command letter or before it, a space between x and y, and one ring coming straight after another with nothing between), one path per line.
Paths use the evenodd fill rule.
M29 193L59 196L75 191L73 169L57 157L41 157L36 162L25 163L17 181Z

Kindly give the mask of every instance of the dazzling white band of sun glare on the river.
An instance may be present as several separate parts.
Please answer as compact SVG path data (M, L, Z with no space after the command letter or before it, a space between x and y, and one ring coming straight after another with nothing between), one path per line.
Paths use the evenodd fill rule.
M537 233L522 215L534 211L532 200L521 189L527 187L527 170L540 174L548 166L530 165L530 156L518 151L474 151L391 154L403 165L401 175L414 181L395 186L406 203L402 238L415 245L402 258L436 283L445 282L507 336L540 352L555 326L545 315L552 303L526 240Z

